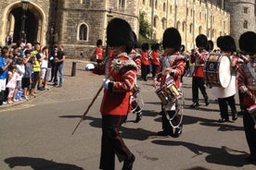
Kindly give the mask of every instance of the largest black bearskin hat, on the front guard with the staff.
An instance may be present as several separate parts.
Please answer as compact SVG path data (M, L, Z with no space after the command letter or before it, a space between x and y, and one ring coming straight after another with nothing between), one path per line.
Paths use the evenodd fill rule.
M107 42L112 46L126 46L126 53L134 48L134 33L130 24L122 18L112 18L107 27Z

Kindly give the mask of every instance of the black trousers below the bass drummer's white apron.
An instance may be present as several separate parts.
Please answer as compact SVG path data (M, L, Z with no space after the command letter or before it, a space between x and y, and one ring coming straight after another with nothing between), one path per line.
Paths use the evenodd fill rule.
M235 95L226 98L218 98L218 102L222 118L228 119L228 105L231 108L232 114L237 113Z

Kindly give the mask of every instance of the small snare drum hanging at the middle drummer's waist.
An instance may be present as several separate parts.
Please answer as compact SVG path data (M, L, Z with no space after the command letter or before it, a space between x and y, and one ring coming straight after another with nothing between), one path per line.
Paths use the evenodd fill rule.
M160 101L163 105L169 103L174 103L176 99L180 96L180 92L173 82L169 82L156 91L157 95L160 98Z

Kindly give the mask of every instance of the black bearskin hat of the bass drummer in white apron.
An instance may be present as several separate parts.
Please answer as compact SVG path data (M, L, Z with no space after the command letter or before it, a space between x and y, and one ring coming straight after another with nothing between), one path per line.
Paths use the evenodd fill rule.
M231 36L225 35L221 39L220 49L224 52L237 52L237 46L236 46L235 40Z

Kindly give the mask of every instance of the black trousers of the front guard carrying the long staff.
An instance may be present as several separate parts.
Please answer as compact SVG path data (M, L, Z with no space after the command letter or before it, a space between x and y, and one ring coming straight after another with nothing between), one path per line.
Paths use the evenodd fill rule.
M100 169L115 170L115 154L120 162L132 156L120 135L125 119L126 116L121 115L102 115Z

